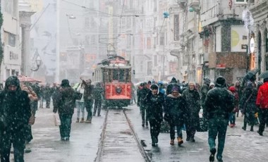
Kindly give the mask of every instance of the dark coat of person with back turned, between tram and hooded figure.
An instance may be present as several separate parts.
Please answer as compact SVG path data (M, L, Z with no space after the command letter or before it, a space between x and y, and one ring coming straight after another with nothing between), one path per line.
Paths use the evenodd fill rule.
M73 115L75 108L75 90L71 87L61 87L55 96L55 105L53 112L59 111L59 114Z

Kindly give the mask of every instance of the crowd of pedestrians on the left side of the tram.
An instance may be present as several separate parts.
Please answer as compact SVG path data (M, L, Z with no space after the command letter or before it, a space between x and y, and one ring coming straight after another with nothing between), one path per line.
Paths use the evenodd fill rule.
M77 123L92 123L92 116L100 115L103 89L99 83L96 87L91 80L83 80L77 87L62 80L61 85L38 85L31 82L20 82L18 77L11 76L6 80L5 87L0 91L0 156L1 161L10 161L11 145L14 161L23 162L24 154L30 152L27 144L32 140L31 125L35 123L38 108L50 108L59 113L59 125L62 141L68 141L71 133L71 119L75 107L78 111ZM79 95L78 95L79 94ZM38 105L39 102L39 105ZM94 111L92 113L93 104ZM87 116L85 118L85 110ZM80 119L80 112L82 118ZM26 149L25 149L26 148Z

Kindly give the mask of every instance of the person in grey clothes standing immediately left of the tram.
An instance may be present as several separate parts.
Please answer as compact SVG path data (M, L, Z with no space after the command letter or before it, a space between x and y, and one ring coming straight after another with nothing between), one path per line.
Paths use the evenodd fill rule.
M93 99L94 99L94 111L93 116L101 116L100 111L102 109L102 98L104 94L104 89L100 82L97 82L96 87L93 90Z

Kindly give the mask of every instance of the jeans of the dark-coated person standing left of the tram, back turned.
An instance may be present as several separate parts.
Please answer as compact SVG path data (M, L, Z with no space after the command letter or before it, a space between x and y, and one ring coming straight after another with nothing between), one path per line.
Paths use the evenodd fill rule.
M59 119L61 120L61 125L59 126L61 138L70 137L72 116L70 114L59 114Z

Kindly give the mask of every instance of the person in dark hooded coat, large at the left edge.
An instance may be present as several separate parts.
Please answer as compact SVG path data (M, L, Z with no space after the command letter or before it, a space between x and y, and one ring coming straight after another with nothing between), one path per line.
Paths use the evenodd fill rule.
M20 89L18 77L8 77L4 90L0 93L1 162L10 161L11 144L14 150L14 161L24 161L30 116L28 92Z

